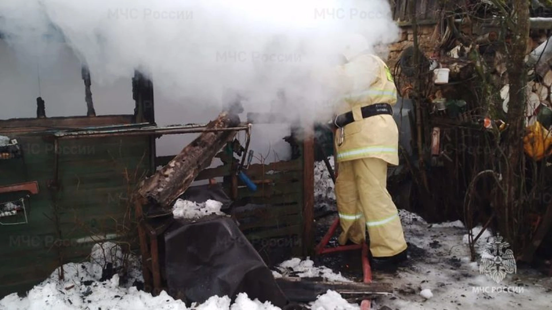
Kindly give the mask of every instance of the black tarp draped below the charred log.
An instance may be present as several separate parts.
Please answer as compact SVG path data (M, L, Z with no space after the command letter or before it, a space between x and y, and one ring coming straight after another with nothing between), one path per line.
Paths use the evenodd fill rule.
M231 217L177 220L167 229L164 242L167 286L173 297L187 302L204 302L214 295L233 300L245 292L277 307L288 303Z

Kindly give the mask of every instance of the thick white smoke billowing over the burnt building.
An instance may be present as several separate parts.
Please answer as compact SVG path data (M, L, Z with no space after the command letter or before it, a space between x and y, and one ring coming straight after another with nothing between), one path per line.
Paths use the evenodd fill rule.
M202 121L229 89L248 96L246 112L325 121L334 94L321 81L343 35L361 33L375 47L399 29L386 0L2 0L0 33L23 62L54 60L52 42L65 39L88 65L93 94L140 69L156 99L209 111Z

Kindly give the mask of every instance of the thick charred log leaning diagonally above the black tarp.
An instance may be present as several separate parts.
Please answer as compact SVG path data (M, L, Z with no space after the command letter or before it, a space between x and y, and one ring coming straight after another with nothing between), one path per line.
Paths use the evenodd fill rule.
M239 124L240 118L236 114L225 111L209 122L206 129L225 129ZM157 207L172 207L178 196L184 194L201 170L209 167L216 153L235 135L236 131L201 133L168 164L142 181L138 193Z

